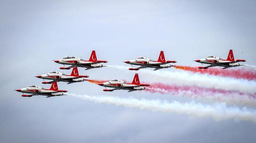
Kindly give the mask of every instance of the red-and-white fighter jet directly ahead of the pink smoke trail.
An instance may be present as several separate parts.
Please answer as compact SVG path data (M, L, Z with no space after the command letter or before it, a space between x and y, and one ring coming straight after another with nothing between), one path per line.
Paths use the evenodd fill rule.
M104 86L105 88L106 87L113 88L113 89L103 89L103 91L114 91L114 90L123 89L123 90L129 90L128 92L137 91L137 90L145 90L145 87L143 87L143 86L150 86L149 84L140 84L138 74L135 74L132 83L125 83L122 80L113 79L113 80L110 80L109 82L101 83L98 85Z

